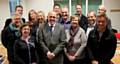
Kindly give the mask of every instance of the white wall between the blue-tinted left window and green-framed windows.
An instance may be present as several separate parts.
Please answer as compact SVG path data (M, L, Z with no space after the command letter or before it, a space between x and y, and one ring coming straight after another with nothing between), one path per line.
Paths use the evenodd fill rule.
M34 9L36 11L42 10L45 15L52 10L53 0L21 0L21 4L24 7L23 17L28 20L28 12L30 9Z

